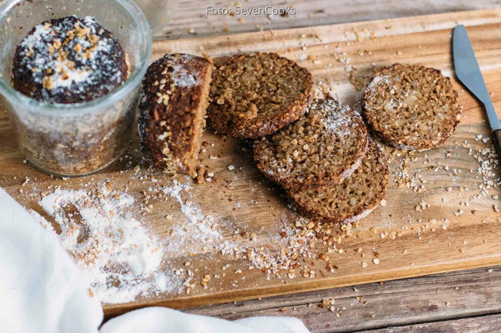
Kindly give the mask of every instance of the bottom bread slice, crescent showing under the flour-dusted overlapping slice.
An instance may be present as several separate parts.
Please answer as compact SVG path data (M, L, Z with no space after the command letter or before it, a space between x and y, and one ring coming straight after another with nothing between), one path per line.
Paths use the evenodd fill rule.
M369 215L386 195L389 168L384 154L371 141L366 158L341 183L309 191L288 191L290 201L313 219L354 222Z

